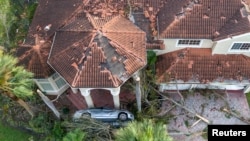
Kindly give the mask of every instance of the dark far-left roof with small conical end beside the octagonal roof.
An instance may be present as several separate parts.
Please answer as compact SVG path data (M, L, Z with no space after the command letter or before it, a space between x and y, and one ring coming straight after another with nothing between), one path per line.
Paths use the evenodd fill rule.
M46 78L53 73L47 64L51 47L50 35L54 34L64 20L82 3L81 0L39 0L34 18L29 27L25 42L19 45L17 57L19 64L35 74L35 78ZM56 19L56 20L55 20ZM45 31L44 28L50 29ZM41 43L36 42L39 36ZM37 38L38 39L38 38ZM39 41L39 42L40 42ZM45 43L43 43L45 42Z

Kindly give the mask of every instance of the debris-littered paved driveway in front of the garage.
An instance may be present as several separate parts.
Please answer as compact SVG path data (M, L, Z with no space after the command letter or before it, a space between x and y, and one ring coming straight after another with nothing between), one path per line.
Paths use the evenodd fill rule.
M242 90L202 90L181 93L184 97L183 106L204 117L210 124L249 124L240 119L242 117L250 121L249 106ZM181 103L181 97L176 92L167 93L166 96ZM175 141L207 141L208 123L169 101L163 102L161 114L166 111L168 111L166 116L170 117L168 132Z

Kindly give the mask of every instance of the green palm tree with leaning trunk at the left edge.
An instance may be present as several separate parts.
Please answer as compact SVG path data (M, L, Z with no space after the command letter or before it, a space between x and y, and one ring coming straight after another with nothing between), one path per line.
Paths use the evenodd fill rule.
M23 100L33 95L33 73L17 66L17 59L0 50L0 94L19 103L33 117L33 111Z

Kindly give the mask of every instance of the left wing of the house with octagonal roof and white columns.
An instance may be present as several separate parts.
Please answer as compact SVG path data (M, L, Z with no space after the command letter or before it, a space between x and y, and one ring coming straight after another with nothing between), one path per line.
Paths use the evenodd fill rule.
M109 90L120 107L120 87L146 65L146 34L124 17L123 1L40 0L19 63L35 73L46 94Z

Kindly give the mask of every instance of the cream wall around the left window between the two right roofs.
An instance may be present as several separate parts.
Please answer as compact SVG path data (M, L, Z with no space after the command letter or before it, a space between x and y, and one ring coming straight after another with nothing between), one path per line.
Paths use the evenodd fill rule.
M176 50L180 50L186 47L190 48L212 48L213 41L208 39L201 39L201 43L199 46L178 46L179 39L163 39L165 44L165 50L154 50L156 52L156 55L162 55L168 52L173 52ZM184 39L185 40L185 39Z

